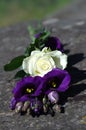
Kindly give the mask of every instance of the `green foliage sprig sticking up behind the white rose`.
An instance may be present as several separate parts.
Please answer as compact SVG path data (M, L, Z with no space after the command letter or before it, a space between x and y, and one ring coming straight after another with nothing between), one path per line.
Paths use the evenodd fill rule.
M25 50L25 56L29 56L31 52L35 49L42 50L45 47L45 43L47 42L48 37L50 36L50 32L45 28L39 28L35 30L31 26L28 27L30 36L32 37L32 43ZM39 37L35 37L35 34L40 34Z

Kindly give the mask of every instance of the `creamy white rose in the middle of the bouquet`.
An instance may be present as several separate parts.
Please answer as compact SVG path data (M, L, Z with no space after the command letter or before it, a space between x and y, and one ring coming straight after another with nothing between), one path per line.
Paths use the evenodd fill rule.
M53 68L65 69L67 56L60 51L50 51L46 47L42 51L35 50L23 60L23 70L32 76L44 76Z

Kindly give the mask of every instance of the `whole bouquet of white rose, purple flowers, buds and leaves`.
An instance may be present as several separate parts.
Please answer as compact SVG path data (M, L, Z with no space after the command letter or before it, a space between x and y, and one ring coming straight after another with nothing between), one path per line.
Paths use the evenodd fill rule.
M70 75L65 70L67 55L60 40L50 32L45 29L32 32L30 28L32 42L25 54L4 66L5 71L19 68L10 108L18 113L52 114L54 106L59 108L59 93L65 92L70 84Z

